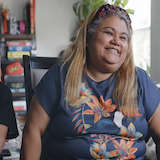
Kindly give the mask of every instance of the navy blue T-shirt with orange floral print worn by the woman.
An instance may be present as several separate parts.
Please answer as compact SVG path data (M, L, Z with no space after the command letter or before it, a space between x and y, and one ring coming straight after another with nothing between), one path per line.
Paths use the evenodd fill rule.
M67 66L54 65L35 88L51 119L45 141L48 160L144 159L147 121L160 103L160 90L146 72L137 68L139 114L127 118L112 98L116 74L98 83L83 77L80 97L66 106L66 71Z

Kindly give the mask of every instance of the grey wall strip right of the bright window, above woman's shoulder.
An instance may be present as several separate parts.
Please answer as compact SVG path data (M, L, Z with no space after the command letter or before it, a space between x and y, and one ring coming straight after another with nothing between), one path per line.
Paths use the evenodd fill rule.
M160 1L151 1L151 75L160 83Z

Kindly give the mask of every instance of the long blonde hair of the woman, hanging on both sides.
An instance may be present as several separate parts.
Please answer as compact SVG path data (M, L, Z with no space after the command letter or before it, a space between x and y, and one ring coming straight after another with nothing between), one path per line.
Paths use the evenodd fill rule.
M67 103L74 102L80 95L81 80L87 66L87 26L92 22L97 10L89 16L85 23L81 24L77 30L75 40L64 51L64 64L69 62L69 69L65 79L65 98ZM130 33L132 33L131 25L129 25L129 28ZM128 42L129 49L127 57L117 71L117 83L114 88L113 99L120 106L119 110L126 116L135 117L138 113L137 78L133 62L131 36Z

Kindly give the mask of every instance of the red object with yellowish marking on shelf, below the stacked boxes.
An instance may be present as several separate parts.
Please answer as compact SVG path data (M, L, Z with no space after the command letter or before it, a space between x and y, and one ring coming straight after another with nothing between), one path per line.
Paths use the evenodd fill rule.
M7 75L12 75L12 76L22 75L24 74L23 66L21 65L20 62L14 62L8 64L6 66L6 73Z

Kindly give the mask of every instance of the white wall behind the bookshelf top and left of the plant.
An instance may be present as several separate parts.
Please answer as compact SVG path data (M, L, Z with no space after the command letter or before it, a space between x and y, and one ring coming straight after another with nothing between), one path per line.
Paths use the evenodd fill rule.
M29 0L0 0L18 20ZM75 28L72 9L75 0L36 0L36 42L38 56L57 56L70 42Z

